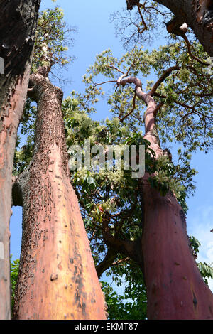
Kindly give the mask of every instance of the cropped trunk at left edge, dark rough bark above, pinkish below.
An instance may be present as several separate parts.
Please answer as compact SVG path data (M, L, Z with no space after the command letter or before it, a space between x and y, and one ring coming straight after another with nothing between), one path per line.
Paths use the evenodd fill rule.
M0 1L0 319L11 318L9 220L18 124L28 89L40 0ZM4 72L4 74L3 74Z

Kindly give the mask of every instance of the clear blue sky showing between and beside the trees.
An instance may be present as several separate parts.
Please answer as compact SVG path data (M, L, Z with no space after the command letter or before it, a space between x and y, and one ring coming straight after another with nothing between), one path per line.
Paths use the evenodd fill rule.
M72 90L84 91L82 75L94 62L97 53L107 48L113 50L114 55L120 56L124 49L115 37L114 26L109 21L109 16L114 11L120 11L125 6L124 0L100 1L100 0L57 0L55 4L51 0L43 0L41 10L60 6L65 13L65 21L70 26L77 27L75 44L70 50L77 58L72 63L65 77L71 79L71 83L63 86L64 97L70 95ZM159 41L158 41L159 42ZM156 45L152 45L156 48ZM109 116L106 104L99 104L96 119L104 119ZM201 242L198 261L213 262L213 153L196 153L192 157L192 166L199 172L195 176L197 191L193 198L187 201L189 210L187 212L187 231ZM21 208L13 208L11 217L11 254L13 259L19 257L21 250ZM210 287L213 291L213 280Z

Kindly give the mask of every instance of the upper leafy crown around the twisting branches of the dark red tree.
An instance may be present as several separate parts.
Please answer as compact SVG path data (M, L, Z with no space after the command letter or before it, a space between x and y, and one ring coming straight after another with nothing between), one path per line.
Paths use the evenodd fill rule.
M208 56L200 45L194 43L193 47L199 52L200 58L207 61ZM167 68L174 65L178 65L178 70L166 77L155 96L157 103L163 102L156 118L160 141L167 145L178 141L183 149L187 147L188 153L197 149L208 151L212 145L212 77L204 72L200 63L189 58L180 42L151 52L135 47L120 59L115 58L110 49L104 50L97 55L84 76L87 99L94 99L102 92L102 85L97 90L95 80L116 82L122 73L128 73L140 78L143 91L148 91L153 81L145 79L155 75L157 80ZM133 106L132 99L133 87L116 87L116 91L108 97L111 112L119 117L128 114ZM141 112L144 107L144 103L136 99L136 107L126 122L142 126Z

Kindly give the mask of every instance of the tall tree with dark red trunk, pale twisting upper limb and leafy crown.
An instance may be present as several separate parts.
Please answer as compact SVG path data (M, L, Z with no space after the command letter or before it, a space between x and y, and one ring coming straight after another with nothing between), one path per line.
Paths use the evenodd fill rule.
M138 74L146 77L151 65L158 73L158 80L148 82L145 92ZM168 65L167 69L165 65ZM84 78L89 84L87 93L91 91L93 97L101 94L97 88L101 84L94 82L94 75L101 72L108 82L116 82L118 87L109 103L119 114L121 122L126 122L128 117L131 117L131 124L136 122L135 119L141 122L140 107L146 106L143 140L150 143L154 168L147 169L141 179L143 233L135 241L125 240L120 235L121 223L118 222L117 227L111 226L108 212L102 217L102 233L110 248L135 259L141 266L150 319L211 319L213 316L212 292L204 283L189 247L185 207L178 203L178 200L182 203L182 195L175 195L173 191L175 178L170 173L170 153L160 146L160 139L165 141L167 137L169 141L182 141L183 147L187 146L185 156L199 146L209 148L212 142L212 117L209 113L212 80L209 75L204 75L202 67L194 59L189 61L187 51L175 43L161 47L158 52L153 50L152 54L134 48L121 60L106 50L97 55L96 62ZM116 79L116 74L121 77ZM206 82L209 82L207 90ZM166 124L166 129L163 124ZM156 169L159 163L163 163L165 154L168 161L160 170ZM183 178L183 183L184 180L186 178ZM118 212L116 214L119 215Z

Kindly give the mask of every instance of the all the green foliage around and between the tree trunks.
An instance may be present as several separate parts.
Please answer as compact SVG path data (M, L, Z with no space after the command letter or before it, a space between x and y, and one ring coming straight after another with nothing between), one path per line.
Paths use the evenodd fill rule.
M155 2L146 3L151 3L154 12L158 12ZM146 14L148 11L146 9ZM151 28L157 24L157 20L152 23L153 14L148 14L147 18ZM137 24L139 23L140 21ZM70 61L67 58L70 31L72 29L67 28L59 7L40 13L33 72L40 66L61 67ZM193 51L202 60L207 60L207 54L197 42L193 43ZM153 97L157 103L163 102L163 107L156 116L160 142L165 147L177 146L178 143L176 162L172 162L168 156L155 158L150 143L143 139L144 102L136 98L134 106L134 87L116 85L119 77L126 73L140 78L143 91L148 92L153 87L153 76L158 80L167 68L174 65L178 65L178 70L166 77ZM108 82L109 91L104 92L97 80ZM151 185L163 196L168 191L173 191L186 212L186 197L195 190L193 176L197 173L190 167L191 154L197 149L207 152L212 144L212 77L200 63L190 58L183 43L175 41L152 51L134 47L121 58L114 57L110 49L104 50L88 68L83 82L86 85L84 95L73 91L62 102L67 149L74 144L84 146L85 139L90 140L91 146L101 144L106 152L112 144L144 145L146 172L150 174ZM97 102L102 97L107 98L112 117L98 122L89 117L89 114L96 111ZM28 99L21 119L21 134L27 136L27 141L15 154L13 173L16 175L24 171L33 156L36 112L35 106ZM121 122L126 114L129 117ZM91 158L94 158L94 154L91 154ZM121 155L122 163L124 164L124 154ZM112 236L132 241L138 239L142 233L143 203L139 180L131 177L131 170L117 170L114 163L110 170L99 169L98 162L96 167L97 169L72 171L71 178L80 200L94 262L98 265L107 254L102 234L103 224L107 222ZM197 239L190 237L190 244L193 252L197 253L200 246ZM146 292L141 269L130 259L123 261L124 257L116 254L116 264L109 266L107 275L118 286L122 285L122 281L125 282L124 296L103 282L109 318L145 319ZM213 276L212 268L207 264L200 263L198 267L205 281ZM18 260L11 263L12 298L17 275Z

